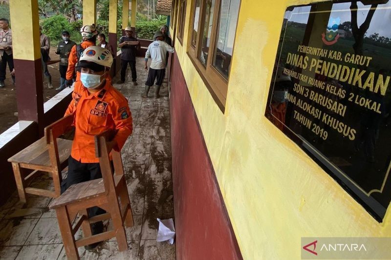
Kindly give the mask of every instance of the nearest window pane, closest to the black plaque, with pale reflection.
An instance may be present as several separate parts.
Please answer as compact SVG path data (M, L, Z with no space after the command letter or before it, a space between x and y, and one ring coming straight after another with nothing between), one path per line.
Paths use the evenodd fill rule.
M228 79L240 0L221 0L213 66Z

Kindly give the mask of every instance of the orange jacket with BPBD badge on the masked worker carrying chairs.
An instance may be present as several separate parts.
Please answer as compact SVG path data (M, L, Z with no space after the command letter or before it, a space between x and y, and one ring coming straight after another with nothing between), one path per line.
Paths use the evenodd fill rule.
M109 77L97 93L89 93L81 81L76 81L65 116L72 113L76 131L71 156L83 163L99 162L95 157L95 135L116 130L114 139L120 151L133 130L128 100L111 85Z

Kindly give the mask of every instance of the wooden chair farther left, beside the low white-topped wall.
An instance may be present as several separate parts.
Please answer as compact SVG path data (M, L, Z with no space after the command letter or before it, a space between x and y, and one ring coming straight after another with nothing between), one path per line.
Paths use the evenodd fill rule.
M61 194L61 171L68 165L72 140L58 138L71 128L73 115L48 125L44 137L8 159L12 163L19 198L26 202L26 193L58 198ZM25 176L27 169L33 170ZM38 172L49 173L53 178L54 191L28 187L28 181Z

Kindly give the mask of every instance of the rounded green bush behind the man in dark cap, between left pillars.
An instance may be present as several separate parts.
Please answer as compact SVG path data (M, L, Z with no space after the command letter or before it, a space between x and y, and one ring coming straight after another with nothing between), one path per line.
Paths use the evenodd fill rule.
M57 43L62 40L61 32L64 30L76 37L76 34L72 34L74 28L63 15L51 16L42 22L42 33L49 37L52 45L57 45Z

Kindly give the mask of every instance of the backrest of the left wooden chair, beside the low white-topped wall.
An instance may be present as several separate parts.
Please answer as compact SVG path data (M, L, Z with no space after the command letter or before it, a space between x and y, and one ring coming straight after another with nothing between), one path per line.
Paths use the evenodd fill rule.
M52 167L59 168L60 159L57 147L57 138L67 132L73 123L73 114L67 115L62 119L55 121L44 129L46 145L49 152L50 163Z

